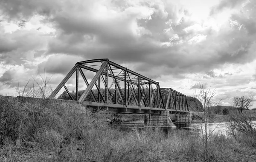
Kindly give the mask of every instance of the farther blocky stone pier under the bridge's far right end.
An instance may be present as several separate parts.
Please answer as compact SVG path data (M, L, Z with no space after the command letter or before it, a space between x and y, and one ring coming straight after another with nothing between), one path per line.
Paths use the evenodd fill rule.
M191 123L191 121L192 121L191 112L175 115L175 126L177 127L187 127L187 124Z

